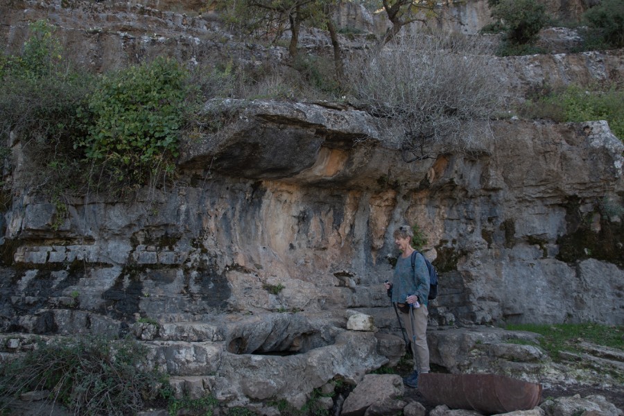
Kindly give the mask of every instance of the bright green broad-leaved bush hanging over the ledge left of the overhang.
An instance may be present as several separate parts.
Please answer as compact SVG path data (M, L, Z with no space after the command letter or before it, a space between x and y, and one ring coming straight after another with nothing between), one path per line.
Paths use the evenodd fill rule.
M76 141L89 159L106 162L119 181L143 184L177 156L188 73L168 58L103 76L80 116L87 135Z

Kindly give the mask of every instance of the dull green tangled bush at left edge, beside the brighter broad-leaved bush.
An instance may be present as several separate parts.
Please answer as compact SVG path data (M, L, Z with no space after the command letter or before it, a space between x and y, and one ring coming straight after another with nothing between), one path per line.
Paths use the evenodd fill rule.
M45 21L29 25L21 56L0 61L0 138L10 132L28 152L33 186L71 182L80 159L73 137L80 135L76 109L94 88L94 77L71 68Z

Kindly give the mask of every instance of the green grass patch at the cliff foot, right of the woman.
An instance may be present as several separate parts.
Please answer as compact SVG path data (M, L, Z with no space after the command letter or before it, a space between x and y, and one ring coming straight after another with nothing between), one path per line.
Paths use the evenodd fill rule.
M530 331L539 333L539 347L553 359L560 357L560 352L580 352L581 341L587 341L605 347L624 349L624 327L601 324L508 324L510 331Z

